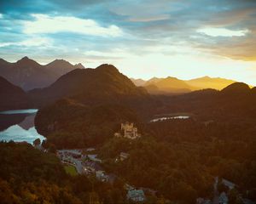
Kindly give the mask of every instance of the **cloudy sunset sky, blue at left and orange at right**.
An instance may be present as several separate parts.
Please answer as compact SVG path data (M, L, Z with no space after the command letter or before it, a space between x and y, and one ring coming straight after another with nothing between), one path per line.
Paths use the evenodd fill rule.
M0 58L256 86L256 0L1 0Z

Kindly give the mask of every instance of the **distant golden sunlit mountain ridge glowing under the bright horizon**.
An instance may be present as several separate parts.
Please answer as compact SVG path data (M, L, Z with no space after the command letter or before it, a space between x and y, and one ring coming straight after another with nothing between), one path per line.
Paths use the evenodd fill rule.
M230 79L207 76L191 80L181 80L176 77L153 77L148 81L131 78L131 81L137 86L146 88L149 94L184 94L206 88L221 90L236 82Z

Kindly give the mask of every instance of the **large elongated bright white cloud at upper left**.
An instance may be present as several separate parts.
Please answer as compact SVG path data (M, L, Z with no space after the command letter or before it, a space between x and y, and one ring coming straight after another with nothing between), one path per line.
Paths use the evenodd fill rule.
M77 17L55 16L47 14L32 14L35 20L24 21L24 33L58 33L73 32L90 36L119 37L122 31L118 26L102 27L95 20L84 20Z

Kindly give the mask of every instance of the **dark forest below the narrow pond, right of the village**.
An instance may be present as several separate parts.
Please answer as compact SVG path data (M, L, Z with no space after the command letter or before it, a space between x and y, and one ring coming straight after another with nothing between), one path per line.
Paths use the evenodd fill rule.
M255 127L228 122L206 126L193 119L180 119L154 122L144 128L147 131L142 139L111 139L102 146L108 171L181 203L195 203L197 197L211 199L218 176L237 185L232 196L238 199L242 194L255 201ZM115 162L120 152L130 156Z

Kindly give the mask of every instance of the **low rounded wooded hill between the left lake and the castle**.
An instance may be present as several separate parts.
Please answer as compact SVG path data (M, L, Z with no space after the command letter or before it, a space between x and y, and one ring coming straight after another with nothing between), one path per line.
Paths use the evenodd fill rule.
M114 130L126 121L138 122L138 118L123 105L87 106L61 99L38 111L35 126L59 149L84 148L112 138Z

